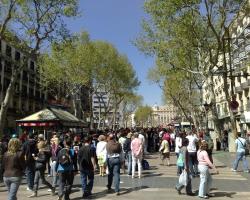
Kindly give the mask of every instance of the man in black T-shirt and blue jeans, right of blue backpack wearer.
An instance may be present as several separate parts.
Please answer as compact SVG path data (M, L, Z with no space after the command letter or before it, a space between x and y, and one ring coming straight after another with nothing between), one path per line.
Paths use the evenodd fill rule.
M96 153L94 148L91 148L91 137L84 138L84 145L78 152L78 164L81 175L83 198L88 198L92 195L94 185L94 171L96 168Z

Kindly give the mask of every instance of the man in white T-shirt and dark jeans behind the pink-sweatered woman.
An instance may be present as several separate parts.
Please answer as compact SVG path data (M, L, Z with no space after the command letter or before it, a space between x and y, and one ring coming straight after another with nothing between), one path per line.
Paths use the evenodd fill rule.
M188 150L188 159L189 159L189 169L190 173L193 177L198 176L198 160L197 160L197 142L198 138L195 133L192 131L188 131L188 135L186 136L189 143L187 146Z

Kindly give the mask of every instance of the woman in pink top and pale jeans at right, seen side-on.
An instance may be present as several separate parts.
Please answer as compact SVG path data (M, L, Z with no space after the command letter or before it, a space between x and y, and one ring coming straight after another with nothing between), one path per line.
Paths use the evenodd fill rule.
M208 143L205 140L202 140L200 149L197 152L197 157L199 162L198 169L200 172L200 186L198 196L203 199L208 199L209 197L213 196L209 193L212 185L212 176L209 172L209 168L214 169L216 173L219 173L215 165L213 165L213 163L209 159L207 150Z

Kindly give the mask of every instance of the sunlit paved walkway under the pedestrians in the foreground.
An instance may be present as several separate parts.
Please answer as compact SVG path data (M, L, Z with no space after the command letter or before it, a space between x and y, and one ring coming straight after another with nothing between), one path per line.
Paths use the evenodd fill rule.
M223 155L225 154L225 155ZM228 158L227 158L228 156ZM213 175L213 187L212 193L215 197L211 199L236 199L236 200L250 200L250 175L242 172L231 172L230 165L226 165L223 159L233 159L233 155L229 153L215 153L215 163L220 173ZM108 194L106 188L107 177L95 177L95 186L93 189L93 195L90 199L131 199L131 200L154 200L157 199L197 199L197 197L189 197L186 195L178 195L174 189L177 181L176 167L174 166L176 159L175 156L171 156L170 167L161 165L159 155L151 154L147 156L147 160L150 163L150 170L143 171L143 177L141 179L131 179L126 175L121 175L121 195L116 196L115 193ZM197 192L199 185L199 178L192 180L193 191ZM184 192L184 191L183 191ZM26 191L26 184L22 184L18 191L19 200L27 200L27 196L30 192ZM71 200L81 199L81 186L80 177L77 175L74 181L74 189L71 194ZM51 196L47 191L47 188L41 186L39 189L37 198L38 200L56 200L57 196ZM7 199L7 192L5 187L0 187L0 200Z

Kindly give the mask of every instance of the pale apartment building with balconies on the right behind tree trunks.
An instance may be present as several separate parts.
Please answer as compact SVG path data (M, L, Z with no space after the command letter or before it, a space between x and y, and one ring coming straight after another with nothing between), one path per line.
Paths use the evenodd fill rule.
M249 8L250 1L246 5ZM246 9L248 10L248 9ZM233 90L236 101L239 103L238 109L233 110L236 118L237 132L250 131L250 15L245 9L237 15L229 26L231 51L227 55L228 70L232 72L232 77L228 77L229 94ZM219 58L218 65L222 65L222 56ZM222 129L231 131L231 121L229 116L229 105L226 101L223 91L222 75L215 75L213 81L206 80L203 88L203 99L210 102L211 93L208 89L213 84L215 93L215 103L218 117ZM234 88L231 88L231 80L234 82ZM208 112L208 128L214 129L214 119L211 112ZM233 137L229 135L229 143L233 144ZM217 136L214 135L214 139ZM230 141L231 138L231 141ZM231 145L231 147L234 145Z

